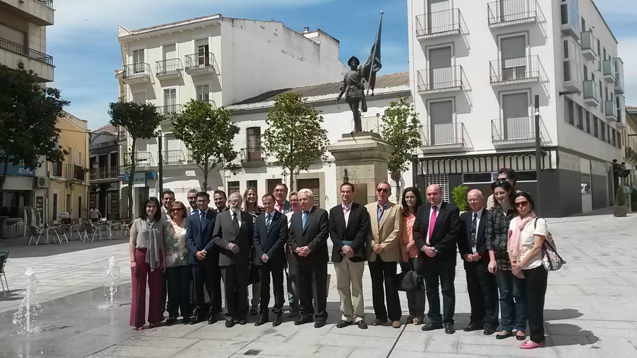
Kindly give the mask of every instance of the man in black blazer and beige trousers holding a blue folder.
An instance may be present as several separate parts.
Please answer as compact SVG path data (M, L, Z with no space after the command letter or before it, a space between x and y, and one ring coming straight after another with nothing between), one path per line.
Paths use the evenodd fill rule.
M362 273L365 271L369 213L364 206L354 203L353 199L354 185L342 183L342 203L329 211L329 237L334 243L332 261L336 270L336 289L341 297L343 315L336 327L343 328L356 324L366 329Z

